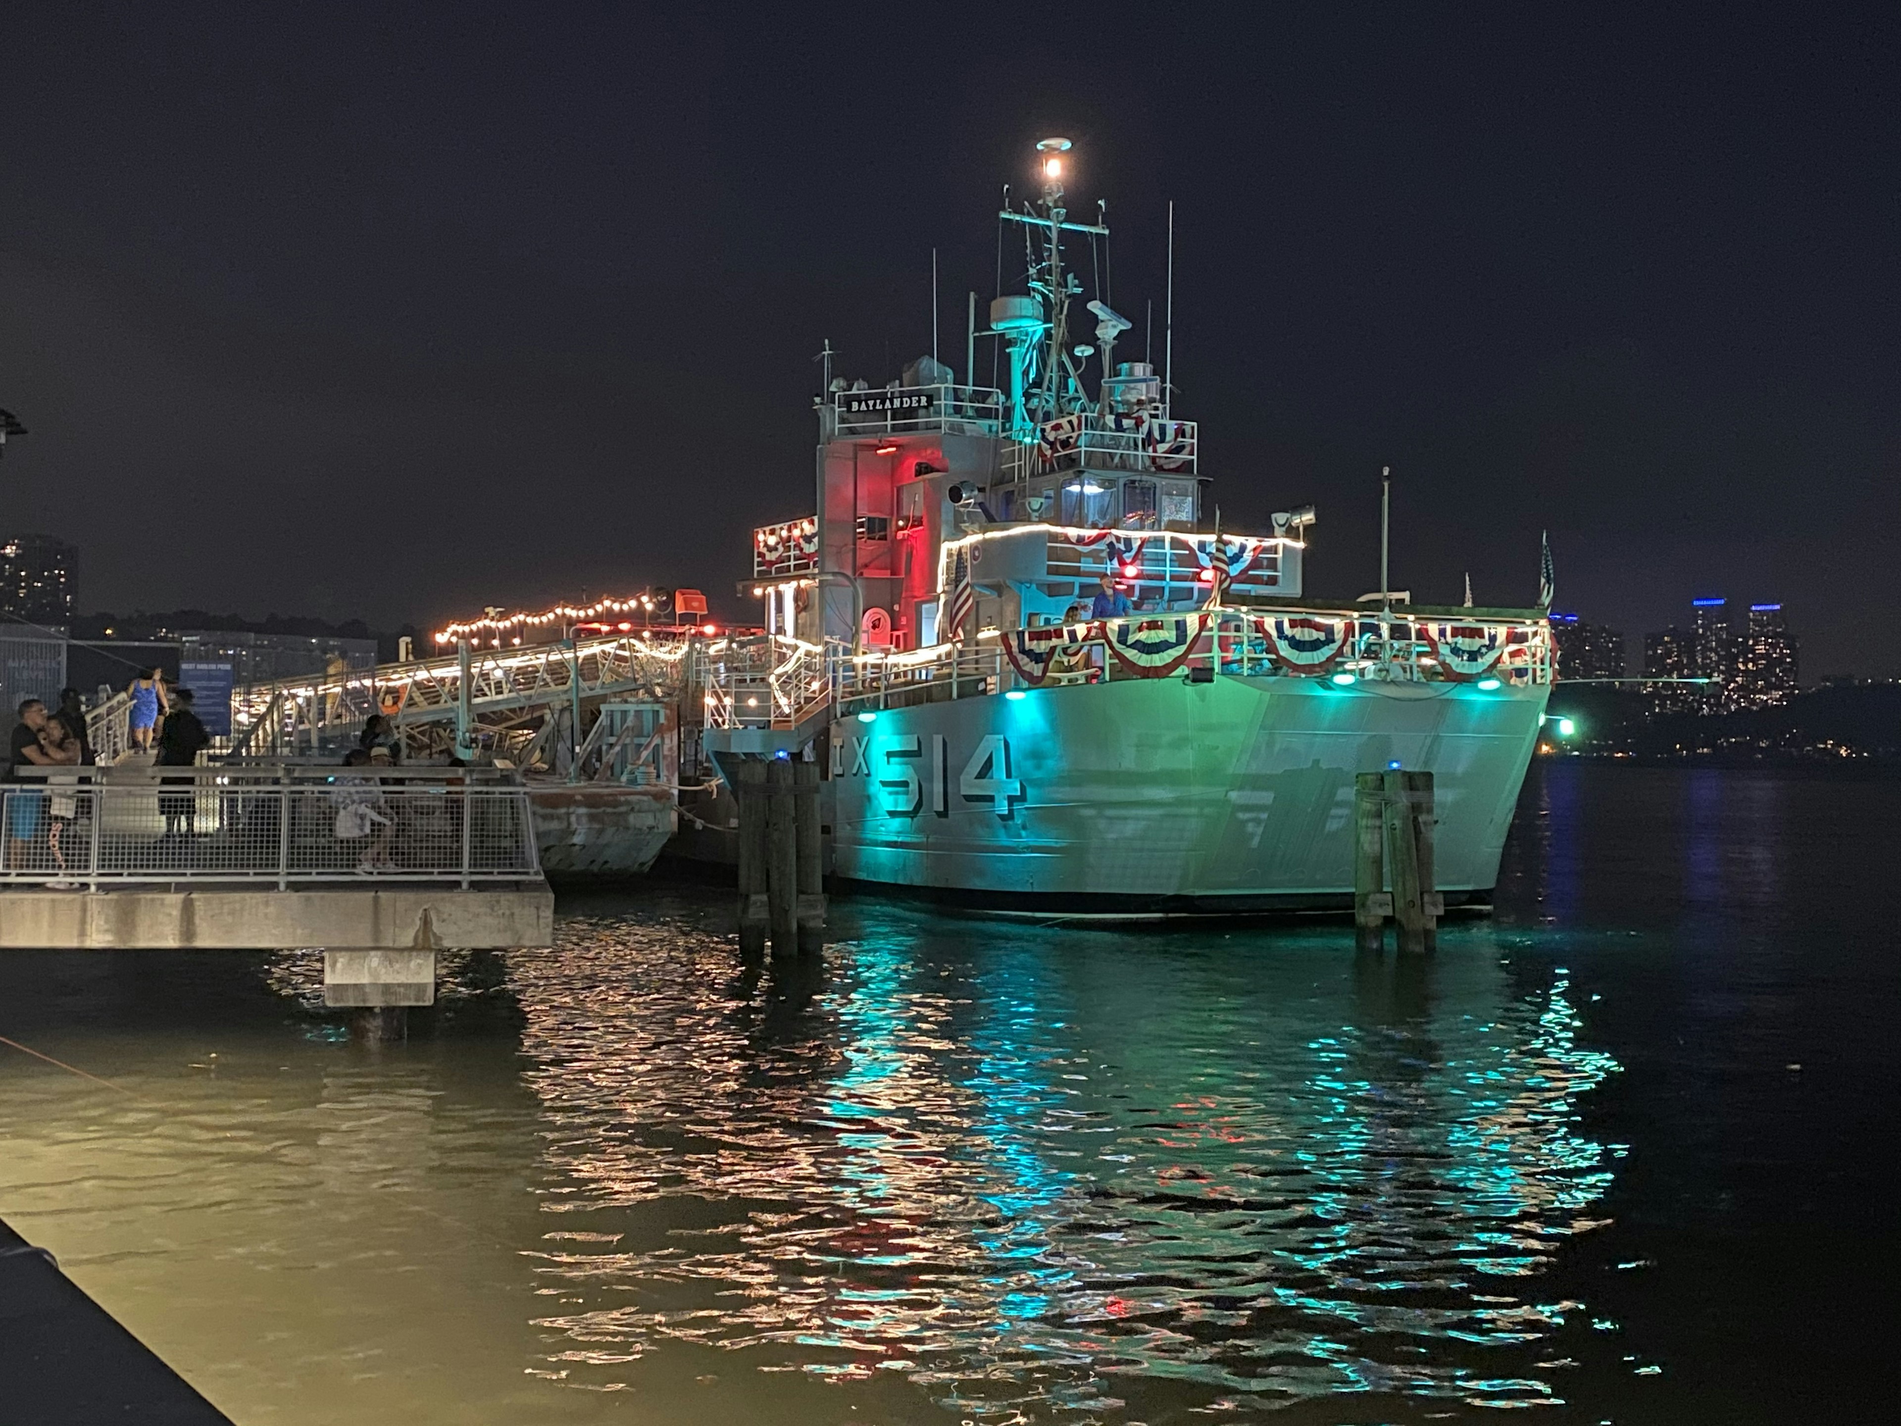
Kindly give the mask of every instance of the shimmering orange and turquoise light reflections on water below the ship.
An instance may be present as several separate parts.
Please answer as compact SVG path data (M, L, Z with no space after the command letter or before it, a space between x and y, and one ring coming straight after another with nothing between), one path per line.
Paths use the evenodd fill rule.
M1546 1278L1601 1224L1578 1108L1618 1069L1563 972L1490 928L1397 960L920 920L791 985L610 918L511 964L565 1380L720 1348L975 1418L1561 1396L1589 1308Z

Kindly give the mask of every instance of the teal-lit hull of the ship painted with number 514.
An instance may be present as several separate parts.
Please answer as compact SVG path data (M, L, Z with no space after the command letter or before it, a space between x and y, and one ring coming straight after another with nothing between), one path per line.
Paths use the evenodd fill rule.
M1344 905L1354 776L1435 774L1437 884L1485 899L1549 688L1125 679L848 717L833 871L996 905Z

